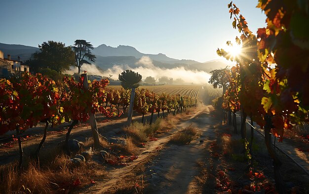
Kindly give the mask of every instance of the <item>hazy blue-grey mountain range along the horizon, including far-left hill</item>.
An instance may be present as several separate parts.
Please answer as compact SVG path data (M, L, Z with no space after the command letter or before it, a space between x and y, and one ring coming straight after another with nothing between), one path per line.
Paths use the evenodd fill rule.
M19 56L22 61L26 61L33 53L39 51L39 48L20 44L0 43L0 50L3 52L4 57L6 57L7 54L10 54L11 59L17 60ZM137 62L143 56L149 56L155 67L166 69L184 67L187 70L210 72L212 70L225 68L227 66L227 63L223 60L213 60L205 63L186 59L179 60L167 57L162 53L141 53L132 46L124 45L111 47L106 44L101 44L92 50L92 54L95 54L97 57L94 64L103 70L113 68L114 65L128 65L132 68L137 67L139 66Z

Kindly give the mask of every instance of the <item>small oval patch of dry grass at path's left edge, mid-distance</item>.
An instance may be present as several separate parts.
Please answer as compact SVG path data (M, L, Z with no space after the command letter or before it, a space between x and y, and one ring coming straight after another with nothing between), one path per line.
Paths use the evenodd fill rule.
M192 140L196 139L198 131L195 127L189 125L185 129L179 131L170 138L170 143L185 145L189 144Z

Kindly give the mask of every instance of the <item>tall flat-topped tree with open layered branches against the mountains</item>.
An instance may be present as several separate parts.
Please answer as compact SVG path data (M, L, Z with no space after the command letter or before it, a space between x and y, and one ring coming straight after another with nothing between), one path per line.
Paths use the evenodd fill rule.
M87 42L86 40L75 40L75 44L73 46L73 50L75 52L75 66L78 68L78 74L80 73L80 68L83 64L90 64L87 60L95 62L96 56L91 54L93 49L92 44Z

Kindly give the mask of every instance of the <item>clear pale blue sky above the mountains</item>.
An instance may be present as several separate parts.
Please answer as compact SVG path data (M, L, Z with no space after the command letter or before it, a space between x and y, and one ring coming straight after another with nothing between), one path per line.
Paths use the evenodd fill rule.
M230 0L1 0L0 42L38 46L76 39L95 47L130 45L200 62L218 58L216 49L238 35ZM258 0L234 0L249 28L266 26Z

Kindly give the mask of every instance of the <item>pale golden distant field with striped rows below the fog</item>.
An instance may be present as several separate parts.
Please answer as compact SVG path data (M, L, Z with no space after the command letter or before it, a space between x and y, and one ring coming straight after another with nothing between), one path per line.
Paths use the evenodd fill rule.
M120 89L120 85L111 85L108 87L114 87ZM199 99L204 104L210 104L211 100L222 95L222 88L213 88L212 85L154 85L154 86L139 86L138 88L145 88L153 91L154 93L160 94L165 92L171 95L183 95L190 96L193 99Z

